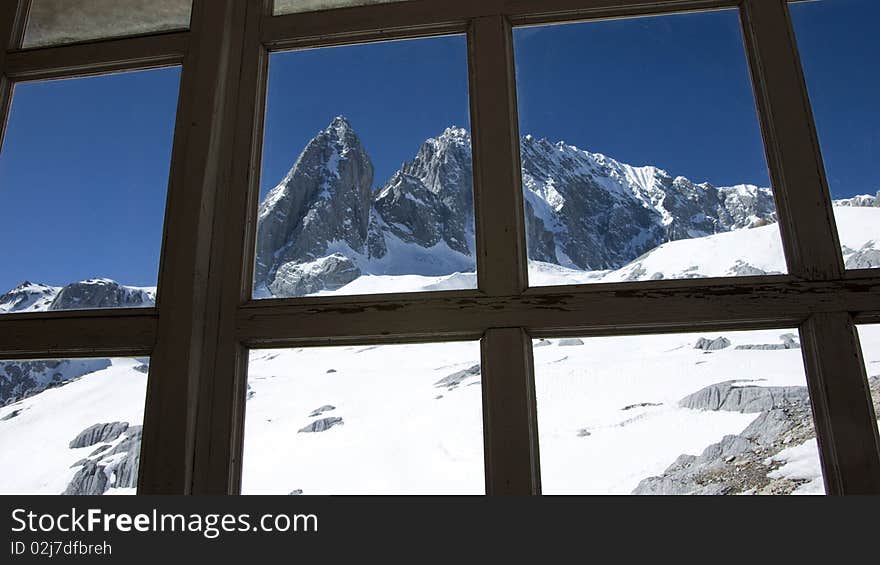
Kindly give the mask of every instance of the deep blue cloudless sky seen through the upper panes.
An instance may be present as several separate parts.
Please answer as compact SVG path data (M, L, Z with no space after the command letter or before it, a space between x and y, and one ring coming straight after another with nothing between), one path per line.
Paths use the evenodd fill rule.
M848 10L848 8L854 8ZM880 189L880 2L792 7L835 197ZM521 133L716 184L767 184L738 17L716 12L518 30ZM381 185L469 127L463 37L272 56L261 187L336 115ZM24 279L156 282L179 70L16 88L0 154L0 290Z

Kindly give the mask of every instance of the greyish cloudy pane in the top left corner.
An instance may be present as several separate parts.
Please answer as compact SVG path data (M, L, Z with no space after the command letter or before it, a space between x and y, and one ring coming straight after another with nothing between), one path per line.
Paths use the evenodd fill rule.
M31 0L23 47L189 27L192 0Z

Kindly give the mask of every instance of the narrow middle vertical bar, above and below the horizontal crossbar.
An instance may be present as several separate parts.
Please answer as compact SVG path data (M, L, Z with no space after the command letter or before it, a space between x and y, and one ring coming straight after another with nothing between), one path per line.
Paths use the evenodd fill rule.
M494 296L527 286L513 35L503 16L469 33L474 205L479 288ZM520 328L482 341L487 494L540 494L532 345Z

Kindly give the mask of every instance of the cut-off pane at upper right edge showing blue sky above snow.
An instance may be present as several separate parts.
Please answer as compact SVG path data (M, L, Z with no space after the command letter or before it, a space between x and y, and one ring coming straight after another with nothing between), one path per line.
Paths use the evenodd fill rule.
M790 8L844 263L880 267L880 3L822 0Z

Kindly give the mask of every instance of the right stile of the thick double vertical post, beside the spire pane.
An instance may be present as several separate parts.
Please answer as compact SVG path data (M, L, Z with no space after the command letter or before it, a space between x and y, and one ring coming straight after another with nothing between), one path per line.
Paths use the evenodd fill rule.
M218 228L212 253L211 276L223 281L217 289L219 309L213 321L210 379L200 392L193 492L238 494L241 484L241 453L244 435L247 349L236 335L236 312L250 299L253 279L253 242L259 197L259 163L262 142L268 53L260 43L267 0L242 3L239 22L242 73L237 108L228 119L234 127L234 143L227 160L231 177L218 199Z

